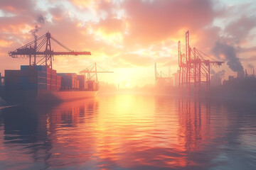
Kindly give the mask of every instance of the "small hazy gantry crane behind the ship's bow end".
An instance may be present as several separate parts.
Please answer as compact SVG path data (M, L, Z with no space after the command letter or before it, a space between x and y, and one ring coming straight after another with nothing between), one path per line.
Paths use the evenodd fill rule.
M102 67L100 67L102 71L98 71L97 67L100 67L100 66L95 62L90 66L86 67L85 69L83 69L82 71L80 71L80 74L84 74L87 81L92 81L94 79L97 82L98 81L97 73L113 73L113 72L105 71L105 69L102 69Z

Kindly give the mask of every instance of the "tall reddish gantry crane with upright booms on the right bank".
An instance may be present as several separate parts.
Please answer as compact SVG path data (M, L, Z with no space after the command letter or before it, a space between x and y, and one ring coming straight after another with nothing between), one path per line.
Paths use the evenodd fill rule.
M194 91L201 91L201 83L206 83L206 91L210 89L210 65L222 65L224 62L206 60L209 57L196 47L191 49L189 45L189 32L186 32L186 54L181 53L181 41L178 41L178 67L179 87L183 90L186 84L188 93L191 91L191 84L194 84Z

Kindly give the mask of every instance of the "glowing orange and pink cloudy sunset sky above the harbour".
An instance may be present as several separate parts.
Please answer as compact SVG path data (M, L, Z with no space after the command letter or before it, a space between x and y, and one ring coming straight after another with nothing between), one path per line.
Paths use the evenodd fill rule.
M35 32L35 28L37 28ZM13 59L16 50L47 31L75 51L91 56L55 56L57 72L79 73L97 62L112 74L100 81L121 87L154 84L158 70L177 72L177 42L214 60L225 77L241 69L252 74L256 62L256 2L253 0L0 0L0 72L18 69L28 59ZM59 49L52 45L53 50ZM169 69L170 68L170 69Z

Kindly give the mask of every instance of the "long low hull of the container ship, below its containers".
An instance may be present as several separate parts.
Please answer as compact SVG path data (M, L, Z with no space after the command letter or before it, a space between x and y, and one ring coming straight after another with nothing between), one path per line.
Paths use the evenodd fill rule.
M70 101L96 95L97 91L1 91L1 98L10 103Z

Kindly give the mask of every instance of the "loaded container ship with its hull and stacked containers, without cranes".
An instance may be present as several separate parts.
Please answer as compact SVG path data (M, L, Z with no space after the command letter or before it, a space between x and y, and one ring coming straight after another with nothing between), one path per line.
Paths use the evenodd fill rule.
M20 70L5 70L0 96L11 103L64 101L94 97L99 82L85 75L57 73L43 65L21 65Z

